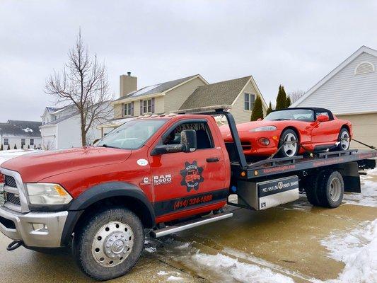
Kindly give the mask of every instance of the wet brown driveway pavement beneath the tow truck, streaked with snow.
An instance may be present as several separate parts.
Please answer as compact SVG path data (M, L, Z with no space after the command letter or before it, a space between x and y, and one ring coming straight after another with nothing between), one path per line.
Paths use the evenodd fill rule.
M376 184L377 175L369 176L367 182ZM376 195L369 197L377 200ZM352 195L345 199L350 198ZM320 241L332 231L347 233L361 222L377 218L377 207L356 204L354 201L337 209L323 209L312 207L303 196L296 202L262 212L234 209L231 219L161 240L146 239L146 249L132 272L110 282L335 279L344 263L328 257L328 250ZM91 281L68 254L45 255L25 248L7 252L9 242L0 236L3 283Z

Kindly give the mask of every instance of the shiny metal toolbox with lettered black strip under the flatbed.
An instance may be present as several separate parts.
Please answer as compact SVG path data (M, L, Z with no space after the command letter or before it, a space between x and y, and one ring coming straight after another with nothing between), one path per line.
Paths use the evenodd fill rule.
M298 176L260 182L238 182L238 204L255 210L298 200Z

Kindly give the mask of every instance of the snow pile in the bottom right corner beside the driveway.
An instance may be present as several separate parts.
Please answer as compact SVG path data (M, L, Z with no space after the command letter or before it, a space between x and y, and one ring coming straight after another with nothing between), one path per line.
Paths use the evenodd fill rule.
M321 241L330 258L344 262L339 277L330 282L377 282L377 219L365 221L346 235L332 233Z

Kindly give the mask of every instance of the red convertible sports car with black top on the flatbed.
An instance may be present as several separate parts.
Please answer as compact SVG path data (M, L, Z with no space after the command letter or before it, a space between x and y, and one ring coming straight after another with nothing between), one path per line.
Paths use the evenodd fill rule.
M231 142L227 125L221 126L226 142ZM269 113L263 120L237 125L243 152L247 156L296 156L327 149L349 149L352 125L325 108L287 108Z

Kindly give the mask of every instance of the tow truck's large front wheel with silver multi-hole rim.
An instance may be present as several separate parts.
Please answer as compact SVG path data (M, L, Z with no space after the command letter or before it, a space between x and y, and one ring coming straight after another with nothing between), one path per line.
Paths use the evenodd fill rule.
M137 215L123 207L98 212L75 232L74 251L79 267L97 280L129 272L143 248L143 225Z

